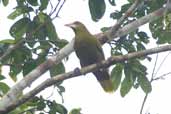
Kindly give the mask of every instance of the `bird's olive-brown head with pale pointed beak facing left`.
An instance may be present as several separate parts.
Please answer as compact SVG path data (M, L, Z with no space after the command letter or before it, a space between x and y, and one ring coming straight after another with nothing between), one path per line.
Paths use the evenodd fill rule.
M75 21L73 23L65 24L65 26L68 26L68 27L72 28L73 31L75 32L75 34L82 33L82 32L86 32L87 31L87 29L84 26L84 24L82 24L79 21Z

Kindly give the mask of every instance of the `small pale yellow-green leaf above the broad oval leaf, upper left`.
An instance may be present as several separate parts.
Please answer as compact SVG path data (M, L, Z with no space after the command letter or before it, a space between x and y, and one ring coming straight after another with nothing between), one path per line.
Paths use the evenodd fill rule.
M33 11L33 8L31 7L27 7L27 6L17 7L14 12L8 15L8 19L14 20L16 17L25 13L32 12L32 11Z

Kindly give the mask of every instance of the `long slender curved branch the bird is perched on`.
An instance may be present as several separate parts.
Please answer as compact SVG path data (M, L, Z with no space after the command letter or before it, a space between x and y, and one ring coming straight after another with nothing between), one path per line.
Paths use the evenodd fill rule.
M24 102L26 102L27 100L29 100L30 98L35 96L40 91L44 90L45 88L47 88L47 87L49 87L49 86L51 86L57 82L60 82L60 81L66 80L66 79L70 79L73 77L78 77L78 76L84 75L86 73L95 71L99 68L109 67L109 66L111 66L115 63L118 63L118 62L123 62L123 61L129 60L129 59L144 57L147 55L151 55L151 54L155 54L155 53L159 53L159 52L164 52L164 51L169 51L169 50L171 50L171 45L161 46L161 47L152 48L152 49L139 51L139 52L133 52L133 53L129 53L126 55L112 56L112 57L108 58L107 60L102 61L101 63L92 64L92 65L84 67L80 70L75 69L74 71L57 75L55 77L47 79L46 81L41 83L39 86L37 86L32 91L30 91L27 94L20 97L20 99L18 99L13 104L10 104L10 106L8 108L6 108L5 110L0 110L0 113L1 114L8 113L9 111L15 109L17 106L23 104Z

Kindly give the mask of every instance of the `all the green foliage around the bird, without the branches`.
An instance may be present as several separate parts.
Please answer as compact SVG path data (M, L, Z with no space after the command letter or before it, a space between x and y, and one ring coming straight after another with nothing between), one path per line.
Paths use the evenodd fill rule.
M3 6L7 6L9 0L1 0ZM30 71L47 60L48 57L58 54L68 41L59 38L53 20L58 17L61 7L58 8L60 0L56 7L52 7L50 0L16 0L14 11L8 15L8 19L15 21L11 26L9 33L13 39L4 39L0 41L0 56L6 53L11 45L22 42L16 50L12 51L0 64L0 97L5 95L10 89L9 85L3 82L6 76L2 75L2 67L9 66L9 76L16 82L18 75L26 76ZM88 0L90 15L93 21L98 22L106 12L108 2L112 7L117 3L115 0ZM129 18L125 19L121 27L138 20L156 9L161 8L164 0L146 0L141 1L137 10L133 12ZM110 13L113 20L120 19L121 16L134 3L134 0L128 0L126 4L121 6L120 10ZM51 11L47 9L51 7ZM58 8L58 9L57 9ZM55 15L55 16L54 16ZM54 16L54 17L53 17ZM155 18L155 17L154 17ZM157 44L171 43L171 14L166 13L160 19L149 23L152 37ZM105 32L110 27L102 28ZM137 52L146 49L150 38L147 33L139 29L122 36L116 40L109 42L111 47L111 55L124 55L130 52ZM151 60L150 57L141 57L133 60L127 60L114 64L111 75L115 91L120 88L122 97L126 96L132 88L140 87L146 94L152 91L151 82L147 77L147 67L142 64L143 60ZM65 73L65 65L61 62L49 70L50 76L56 76ZM62 97L65 88L62 82L56 83L54 88ZM16 108L11 114L26 112L40 112L44 114L67 114L68 111L62 104L57 101L47 100L40 97L33 97L30 101ZM73 109L70 114L80 114L81 109Z

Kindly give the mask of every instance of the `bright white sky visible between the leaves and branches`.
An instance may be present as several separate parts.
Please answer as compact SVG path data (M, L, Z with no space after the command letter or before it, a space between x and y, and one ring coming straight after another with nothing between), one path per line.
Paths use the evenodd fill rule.
M107 6L109 9L107 9L105 16L102 20L95 23L91 20L87 1L88 0L66 1L59 14L60 18L54 21L57 33L61 38L65 38L70 41L74 37L73 31L70 28L65 27L64 24L76 20L83 22L92 34L100 32L100 28L103 26L111 26L114 24L113 20L109 19L109 14L111 11L118 9L117 7ZM117 5L120 6L121 4L117 3ZM1 38L9 37L8 30L13 21L7 20L6 17L11 12L12 8L13 5L9 5L7 8L4 8L2 5L0 6ZM147 26L143 28L147 30ZM148 47L154 47L154 41ZM110 48L108 48L107 45L104 45L103 48L106 56L109 56ZM162 53L162 55L159 56L160 61L157 66L160 65L161 60L163 60L165 55L167 55L167 53ZM155 57L155 55L153 57ZM152 60L152 62L145 61L144 64L148 66L148 73L150 77L154 66L154 60ZM167 59L157 76L170 72L170 64L171 61ZM69 56L69 61L65 62L65 66L66 71L71 71L74 68L79 67L79 61L74 53ZM6 71L4 71L4 73L6 73ZM48 74L45 74L34 84L37 85L40 83L44 80L44 77L47 77L47 75ZM160 80L153 83L153 91L148 97L148 101L146 102L144 108L144 113L150 112L150 114L171 114L170 82L171 78L168 76L165 80ZM120 96L119 90L113 94L107 94L103 91L91 73L86 76L66 80L63 85L66 88L66 92L64 93L64 105L69 110L72 108L81 108L83 114L138 114L144 98L144 93L140 88L138 90L132 89L131 92L124 98ZM49 91L51 90L52 88L48 88L43 91L42 94L50 96L51 92ZM56 96L57 95L54 94L52 98L55 98L61 102L60 97Z

